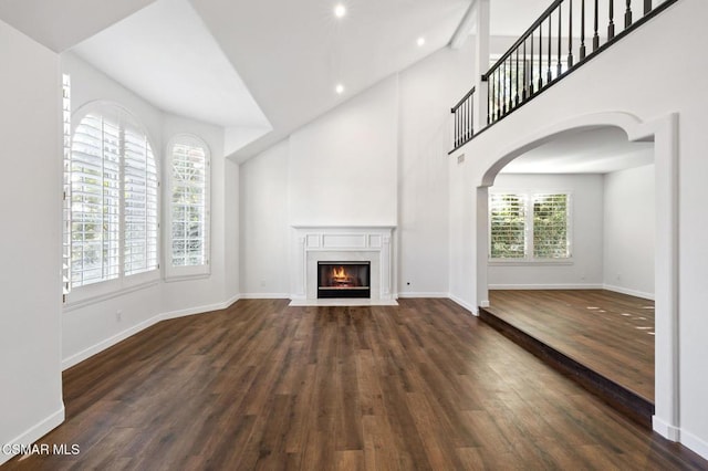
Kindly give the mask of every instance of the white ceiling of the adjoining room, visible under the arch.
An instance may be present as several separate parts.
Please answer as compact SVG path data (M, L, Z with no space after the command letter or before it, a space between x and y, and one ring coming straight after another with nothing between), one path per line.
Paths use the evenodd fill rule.
M616 127L565 134L507 165L502 174L607 174L654 161L654 143L631 143Z

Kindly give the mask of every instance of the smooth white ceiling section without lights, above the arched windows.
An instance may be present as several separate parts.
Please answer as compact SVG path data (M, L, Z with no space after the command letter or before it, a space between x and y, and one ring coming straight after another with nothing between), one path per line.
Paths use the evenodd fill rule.
M270 130L188 0L158 0L72 51L160 109L223 127Z

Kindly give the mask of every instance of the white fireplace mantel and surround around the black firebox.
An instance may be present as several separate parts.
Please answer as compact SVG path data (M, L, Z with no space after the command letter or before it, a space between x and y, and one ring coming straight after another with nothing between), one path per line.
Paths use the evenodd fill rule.
M394 226L293 226L291 305L396 305L393 293ZM368 300L319 300L317 261L371 262Z

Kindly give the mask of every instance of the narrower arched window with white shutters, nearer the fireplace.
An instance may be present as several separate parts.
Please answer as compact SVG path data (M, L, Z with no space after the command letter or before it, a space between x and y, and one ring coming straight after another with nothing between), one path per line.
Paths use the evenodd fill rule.
M171 218L168 274L205 274L209 263L209 149L195 136L179 135L171 140L168 153Z

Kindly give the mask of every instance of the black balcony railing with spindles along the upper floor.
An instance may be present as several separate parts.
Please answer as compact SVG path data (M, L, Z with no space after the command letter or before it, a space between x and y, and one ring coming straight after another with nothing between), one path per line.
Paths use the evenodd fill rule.
M524 105L676 1L664 0L654 7L652 0L554 0L482 75L482 82L487 83L486 127ZM623 18L616 21L615 3L620 2ZM639 7L635 7L636 3L641 3ZM468 101L471 105L473 92L475 88L452 107L452 151L476 135L471 118L458 116L468 113L460 112L460 107L467 106ZM479 132L477 129L477 134Z

